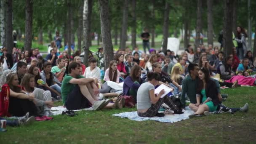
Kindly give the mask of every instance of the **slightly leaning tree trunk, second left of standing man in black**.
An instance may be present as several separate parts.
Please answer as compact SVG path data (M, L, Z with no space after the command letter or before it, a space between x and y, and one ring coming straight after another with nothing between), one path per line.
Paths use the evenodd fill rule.
M125 44L127 40L127 27L128 27L128 0L124 1L123 5L123 21L122 21L122 33L120 40L120 48L125 49Z

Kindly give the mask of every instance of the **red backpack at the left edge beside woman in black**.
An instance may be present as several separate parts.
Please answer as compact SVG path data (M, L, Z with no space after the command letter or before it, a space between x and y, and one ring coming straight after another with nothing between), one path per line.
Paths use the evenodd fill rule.
M8 113L9 98L10 98L10 87L7 84L4 84L2 86L2 91L0 92L0 117L11 116Z

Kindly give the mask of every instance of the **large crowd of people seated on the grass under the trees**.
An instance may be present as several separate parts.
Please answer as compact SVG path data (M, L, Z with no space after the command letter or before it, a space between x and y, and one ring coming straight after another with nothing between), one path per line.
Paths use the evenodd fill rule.
M59 40L59 39L58 39ZM237 49L224 57L218 47L191 45L180 56L173 51L165 53L150 49L147 53L135 48L115 52L115 59L101 69L104 58L102 48L96 56L90 56L85 66L80 52L69 56L61 54L53 41L48 55L43 58L38 48L22 52L13 48L13 55L6 48L0 51L1 96L8 93L8 108L1 115L51 116L53 102L62 101L69 110L93 107L94 110L122 108L125 99L110 101L107 96L131 96L141 117L163 117L158 113L163 103L175 114L182 114L186 100L200 117L213 113L248 111L248 104L241 108L224 106L220 88L236 88L256 85L255 61L251 51L237 56ZM212 49L213 48L213 49ZM103 77L104 75L104 77ZM120 89L120 85L121 88ZM165 85L173 91L163 96L165 90L155 94L155 88ZM181 105L176 106L171 96L179 96ZM2 101L3 102L3 101ZM6 101L5 101L6 102Z

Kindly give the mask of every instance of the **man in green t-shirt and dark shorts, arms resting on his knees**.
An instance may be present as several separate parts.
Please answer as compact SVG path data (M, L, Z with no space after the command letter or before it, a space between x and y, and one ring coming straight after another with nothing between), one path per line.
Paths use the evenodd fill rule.
M64 77L61 85L63 104L69 110L83 109L91 106L93 110L104 108L109 101L99 101L96 97L99 94L99 89L96 87L97 79L83 77L80 75L81 69L81 65L77 62L69 64L69 75ZM91 87L94 94L91 94L88 90Z

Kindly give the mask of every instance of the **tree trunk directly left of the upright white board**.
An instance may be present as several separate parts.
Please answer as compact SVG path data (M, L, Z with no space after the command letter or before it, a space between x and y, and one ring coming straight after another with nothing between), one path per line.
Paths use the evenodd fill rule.
M168 36L169 36L169 11L170 11L170 4L167 0L165 0L165 14L164 14L164 21L163 21L163 49L162 51L165 52L167 50L167 43L168 43Z

